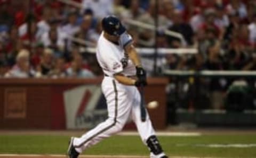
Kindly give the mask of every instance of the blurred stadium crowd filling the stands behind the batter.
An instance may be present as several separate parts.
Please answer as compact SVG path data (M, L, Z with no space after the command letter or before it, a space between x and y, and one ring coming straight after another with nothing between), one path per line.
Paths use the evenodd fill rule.
M86 48L95 47L101 33L101 19L109 14L120 17L124 22L132 19L154 25L157 13L157 47L197 48L199 51L196 55L166 54L158 60L161 62L159 69L256 69L256 1L70 2L79 4L79 7L63 1L0 0L0 77L101 75L95 56ZM155 46L154 31L126 22L125 26L133 36L134 45ZM166 36L165 29L181 33L185 40ZM152 66L147 68L149 74L152 71L150 68ZM227 80L218 79L212 80L209 86L211 91L227 90L227 83ZM220 100L218 95L214 94L211 98Z

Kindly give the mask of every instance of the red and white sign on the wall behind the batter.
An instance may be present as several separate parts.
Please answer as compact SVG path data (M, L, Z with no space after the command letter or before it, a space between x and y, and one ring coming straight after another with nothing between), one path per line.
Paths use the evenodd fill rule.
M107 118L100 85L82 85L63 92L67 129L92 128Z

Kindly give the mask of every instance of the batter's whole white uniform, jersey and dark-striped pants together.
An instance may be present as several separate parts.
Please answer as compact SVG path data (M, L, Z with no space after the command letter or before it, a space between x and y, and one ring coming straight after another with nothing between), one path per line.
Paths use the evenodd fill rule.
M142 142L145 145L147 139L155 135L148 114L145 122L140 119L141 97L137 87L123 85L113 77L116 73L122 73L126 76L135 75L135 67L124 52L124 47L131 42L132 38L126 32L121 35L119 43L108 41L103 37L103 33L99 38L96 55L103 72L106 74L101 88L107 101L108 119L85 133L82 137L74 138L73 145L79 153L97 144L103 138L110 137L121 131L129 118L136 124ZM150 157L154 158L163 155L164 153L154 155L150 152Z

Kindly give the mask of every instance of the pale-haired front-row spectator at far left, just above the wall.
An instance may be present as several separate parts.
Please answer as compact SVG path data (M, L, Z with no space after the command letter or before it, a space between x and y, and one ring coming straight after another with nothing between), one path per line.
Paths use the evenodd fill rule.
M16 64L8 71L4 77L33 77L35 72L29 65L29 51L22 49L16 57Z

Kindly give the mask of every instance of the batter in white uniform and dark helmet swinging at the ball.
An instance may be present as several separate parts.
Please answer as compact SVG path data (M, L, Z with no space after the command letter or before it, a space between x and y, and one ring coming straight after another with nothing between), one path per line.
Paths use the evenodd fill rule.
M102 29L96 56L105 74L101 88L107 100L108 119L79 138L71 137L68 155L78 157L88 147L121 131L131 118L149 148L150 157L165 158L150 118L147 115L144 122L140 119L140 93L136 86L147 85L147 81L132 37L116 16L104 17Z

